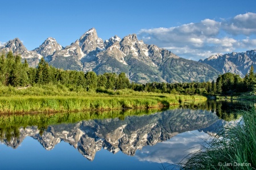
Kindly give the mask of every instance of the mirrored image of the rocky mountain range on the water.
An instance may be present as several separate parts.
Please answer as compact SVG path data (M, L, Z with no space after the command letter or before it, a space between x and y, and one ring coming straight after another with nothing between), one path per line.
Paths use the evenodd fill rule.
M51 125L40 135L36 126L19 128L19 137L10 141L5 135L1 141L17 148L26 137L32 137L52 150L61 141L77 149L86 159L93 160L104 148L113 154L122 151L134 156L136 150L166 141L184 131L207 128L218 120L216 114L203 110L174 109L144 116L128 116L124 120L81 121L75 124Z

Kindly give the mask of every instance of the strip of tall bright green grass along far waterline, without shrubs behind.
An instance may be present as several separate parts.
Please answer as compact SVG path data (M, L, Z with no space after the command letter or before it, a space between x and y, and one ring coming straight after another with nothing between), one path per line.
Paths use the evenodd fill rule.
M121 91L122 92L122 91ZM120 93L121 93L120 92ZM83 96L85 95L85 96ZM75 95L11 95L0 97L0 113L79 112L138 108L163 108L170 105L205 101L203 96L134 92L128 94L86 93Z

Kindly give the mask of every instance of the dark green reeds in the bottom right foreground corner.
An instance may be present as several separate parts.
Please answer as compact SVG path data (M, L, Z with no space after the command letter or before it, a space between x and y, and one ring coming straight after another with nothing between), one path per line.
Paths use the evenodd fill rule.
M192 154L181 169L255 169L256 112L242 111L241 124L226 128L209 146Z

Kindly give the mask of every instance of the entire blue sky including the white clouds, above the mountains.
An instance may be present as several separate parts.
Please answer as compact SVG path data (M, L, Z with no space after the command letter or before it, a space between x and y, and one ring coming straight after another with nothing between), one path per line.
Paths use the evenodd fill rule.
M256 1L3 1L0 45L18 37L28 50L48 37L70 45L94 27L103 40L137 33L146 44L198 61L256 49Z

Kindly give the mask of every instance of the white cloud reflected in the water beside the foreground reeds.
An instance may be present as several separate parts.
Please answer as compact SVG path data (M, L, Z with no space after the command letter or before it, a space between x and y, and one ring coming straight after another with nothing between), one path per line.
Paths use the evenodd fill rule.
M205 144L204 140L209 138L210 135L204 131L187 131L154 147L144 146L135 156L140 161L177 164L188 154L200 150L200 146Z

